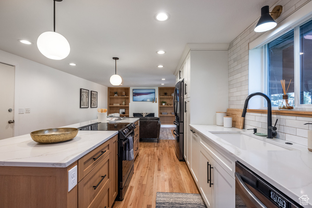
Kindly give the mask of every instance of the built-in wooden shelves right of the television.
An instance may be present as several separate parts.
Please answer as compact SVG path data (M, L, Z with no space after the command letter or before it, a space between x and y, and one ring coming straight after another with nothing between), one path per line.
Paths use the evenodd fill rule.
M173 96L164 96L164 92L171 95L174 92L174 87L158 87L158 117L160 118L161 124L173 124L175 119L173 112ZM171 99L171 101L170 101ZM165 105L161 104L161 101L166 101ZM171 102L171 105L167 105ZM168 113L167 115L162 115L162 113Z

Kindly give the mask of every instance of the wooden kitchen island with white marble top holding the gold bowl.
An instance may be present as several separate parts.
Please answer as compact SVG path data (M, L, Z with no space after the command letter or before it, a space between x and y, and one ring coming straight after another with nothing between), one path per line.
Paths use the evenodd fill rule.
M111 207L117 195L117 134L79 131L54 144L37 143L29 134L0 140L0 207ZM78 185L69 189L69 181Z

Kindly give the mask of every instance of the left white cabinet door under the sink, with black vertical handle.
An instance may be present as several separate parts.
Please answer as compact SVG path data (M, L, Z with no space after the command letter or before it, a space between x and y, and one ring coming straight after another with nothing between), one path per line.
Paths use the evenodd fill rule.
M207 207L213 207L212 202L212 191L213 187L209 186L209 166L212 165L212 157L200 146L199 147L199 186L202 197L207 205ZM213 186L213 185L211 185Z

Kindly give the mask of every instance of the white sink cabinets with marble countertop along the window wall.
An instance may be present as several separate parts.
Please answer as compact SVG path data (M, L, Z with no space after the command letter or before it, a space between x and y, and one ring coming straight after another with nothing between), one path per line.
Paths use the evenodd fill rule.
M230 198L228 198L228 201L230 201L230 206L228 207L234 206L235 161L241 162L251 171L255 172L298 204L300 204L301 196L312 196L312 152L308 151L306 146L296 143L287 145L285 144L287 141L282 139L268 139L268 142L271 142L272 144L275 143L275 145L277 145L276 149L268 148L265 150L261 149L259 145L249 147L241 146L239 148L237 145L239 146L241 144L238 143L235 146L230 143L232 142L231 140L228 140L229 142L227 142L226 140L220 138L222 134L235 132L244 134L247 133L246 135L255 137L256 142L259 141L256 138L259 138L261 141L263 137L254 136L250 131L245 129L224 128L223 126L217 125L190 124L189 126L191 127L191 131L193 131L193 133L191 133L192 137L190 139L191 141L189 141L191 142L191 146L187 151L189 151L188 154L192 157L191 159L186 159L186 162L204 199L206 197L206 204L211 202L209 200L213 201L213 196L212 198L211 196L209 198L207 194L207 191L211 191L209 184L207 185L208 189L206 189L203 185L207 184L207 173L205 177L202 177L202 173L207 172L207 161L206 166L204 166L205 161L203 161L203 159L206 158L208 158L208 160L212 160L212 163L210 161L209 163L212 164L211 167L213 167L212 171L214 172L214 175L212 175L212 177L214 180L212 183L215 185L212 185L211 187L218 186L218 188L222 187L222 189L226 187L226 191L223 193L217 192L218 190L215 188L216 193L215 201L213 201L214 205L219 202L217 199L220 199L220 197L226 197L226 195L229 194ZM220 137L217 135L220 135ZM285 149L281 150L278 146ZM199 162L197 162L197 160ZM224 179L223 181L221 180L220 183L216 181L219 173L223 174L222 178ZM201 179L204 179L206 182L203 183ZM224 181L226 181L223 183L224 186L221 186L220 184ZM312 207L311 201L308 201L308 205L305 205L304 207Z

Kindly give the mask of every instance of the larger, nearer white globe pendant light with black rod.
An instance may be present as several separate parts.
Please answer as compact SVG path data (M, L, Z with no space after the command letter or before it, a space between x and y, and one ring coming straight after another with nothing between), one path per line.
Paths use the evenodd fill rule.
M71 48L64 36L55 32L55 1L54 1L54 31L42 33L37 39L37 47L39 51L49 59L61 60L68 56Z

